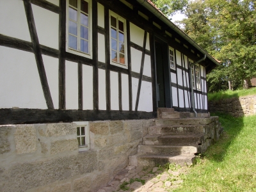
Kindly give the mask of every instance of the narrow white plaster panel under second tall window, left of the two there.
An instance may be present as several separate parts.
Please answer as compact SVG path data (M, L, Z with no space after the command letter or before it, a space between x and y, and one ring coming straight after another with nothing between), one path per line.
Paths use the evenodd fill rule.
M118 99L118 73L110 72L110 95L111 95L111 110L119 110Z

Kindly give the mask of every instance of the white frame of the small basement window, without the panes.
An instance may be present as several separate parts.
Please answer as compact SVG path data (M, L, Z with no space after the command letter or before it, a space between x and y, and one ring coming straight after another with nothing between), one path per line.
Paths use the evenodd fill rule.
M76 127L79 128L79 131L80 131L79 132L80 134L77 135L77 144L78 144L79 152L90 150L89 122L73 122L73 123L77 125ZM84 135L81 134L81 127L84 127ZM81 145L81 143L79 143L78 138L80 138L80 141L81 141L82 137L85 139L85 145Z

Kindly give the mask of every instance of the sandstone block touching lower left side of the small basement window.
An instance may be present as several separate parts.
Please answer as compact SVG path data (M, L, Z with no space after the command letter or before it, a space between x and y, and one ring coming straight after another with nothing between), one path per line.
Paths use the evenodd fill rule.
M77 139L58 140L51 143L51 154L58 154L64 151L73 151L78 149Z

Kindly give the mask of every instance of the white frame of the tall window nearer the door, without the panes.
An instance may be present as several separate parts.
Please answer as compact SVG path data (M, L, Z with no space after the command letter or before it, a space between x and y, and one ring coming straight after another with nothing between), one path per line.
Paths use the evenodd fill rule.
M124 22L124 56L125 56L125 65L122 64L122 63L118 63L118 62L115 62L115 61L112 61L112 57L111 57L111 50L112 50L112 47L111 47L111 16L112 17L115 17L118 20ZM116 24L118 25L118 22L116 22ZM118 26L117 26L117 30L118 30ZM117 40L118 41L118 40ZM119 44L117 44L117 46L119 47ZM117 50L119 50L117 48ZM118 52L118 58L119 58L119 51ZM127 30L126 30L126 20L123 18L123 17L120 17L118 14L114 13L114 12L111 12L111 10L109 10L109 58L110 58L110 63L111 65L115 65L117 67L122 67L122 68L128 68L128 65L127 65Z

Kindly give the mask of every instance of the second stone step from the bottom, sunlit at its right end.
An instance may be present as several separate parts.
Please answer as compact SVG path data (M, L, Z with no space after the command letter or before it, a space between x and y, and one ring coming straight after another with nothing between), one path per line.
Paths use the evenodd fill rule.
M138 154L191 155L201 152L201 146L138 145Z

